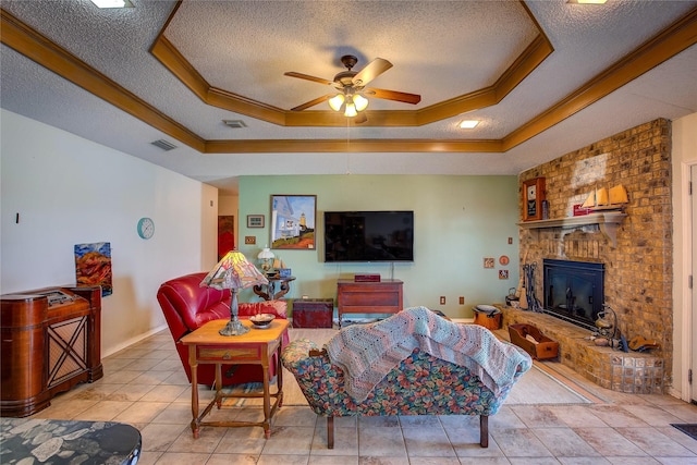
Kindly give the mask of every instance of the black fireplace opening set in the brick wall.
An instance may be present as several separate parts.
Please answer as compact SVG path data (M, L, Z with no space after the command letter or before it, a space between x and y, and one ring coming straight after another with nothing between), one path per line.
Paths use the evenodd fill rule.
M604 302L604 264L543 259L543 311L595 331Z

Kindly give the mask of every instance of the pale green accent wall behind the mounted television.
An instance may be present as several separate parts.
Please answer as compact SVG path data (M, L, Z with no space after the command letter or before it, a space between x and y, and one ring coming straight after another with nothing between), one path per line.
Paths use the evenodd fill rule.
M272 250L296 277L285 298L335 299L338 279L379 273L404 281L405 307L424 305L452 318L472 318L474 306L504 302L518 284L517 188L517 176L503 175L241 176L237 248L258 264L257 254L270 244L271 195L316 195L316 248ZM413 210L414 262L326 264L327 210ZM265 215L265 228L248 229L247 215ZM245 245L245 236L256 236L256 245ZM502 255L509 265L499 264ZM485 257L494 258L494 268L485 269ZM509 279L499 279L499 270L508 270ZM258 297L245 290L241 299Z

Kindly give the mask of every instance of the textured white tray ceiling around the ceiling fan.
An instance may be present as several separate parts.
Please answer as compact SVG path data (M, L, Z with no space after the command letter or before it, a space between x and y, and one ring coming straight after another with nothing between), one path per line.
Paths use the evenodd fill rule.
M124 10L98 10L88 0L3 0L0 7L121 85L168 125L154 123L144 112L117 108L105 86L85 90L71 83L77 74L72 69L50 71L46 68L50 63L40 57L35 58L37 63L25 51L13 50L5 45L8 27L2 28L0 56L2 108L230 191L236 176L245 174L517 174L633 125L697 111L695 21L686 23L686 33L680 36L689 42L684 51L648 72L635 72L637 76L616 89L598 84L600 73L616 70L647 40L686 14L695 15L695 1L132 2L135 8ZM175 75L176 70L170 71L150 52L160 34L200 82L246 107L231 111L225 105L209 105L191 81ZM426 124L381 125L380 114L416 120L443 102L494 85L538 36L553 51L493 105L466 113L481 120L477 129L460 130L457 123L465 118L460 114ZM343 117L333 127L292 126L265 118L264 112L271 110L292 113L291 108L332 89L284 72L331 81L342 71L339 59L346 53L358 57L356 70L378 57L389 60L394 66L370 86L419 94L421 101L412 106L371 99L365 125L344 126ZM588 91L580 91L584 86ZM587 98L592 91L598 97ZM584 103L559 110L571 95ZM552 115L545 120L548 110ZM326 103L306 112L320 119L325 113L335 117ZM233 130L223 120L242 120L246 127ZM454 150L445 144L497 143L527 126L534 130L502 152ZM150 145L157 139L178 148L164 152ZM201 143L189 144L191 139ZM398 144L389 150L356 152L359 148L352 143L362 139ZM409 149L414 139L427 140L428 148ZM208 149L215 142L234 147L235 142L247 140L280 142L257 154ZM343 140L345 149L314 152L299 146L297 152L293 140Z

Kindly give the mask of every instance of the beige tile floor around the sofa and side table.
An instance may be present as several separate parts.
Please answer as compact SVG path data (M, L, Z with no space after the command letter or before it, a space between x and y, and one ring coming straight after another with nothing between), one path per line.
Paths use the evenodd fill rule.
M34 417L131 424L143 435L144 465L697 464L697 440L670 426L697 423L697 406L668 395L619 394L580 378L574 381L601 401L504 405L489 418L488 449L478 445L476 417L433 416L339 418L328 450L325 419L304 406L283 406L269 440L259 427L205 427L194 440L189 384L168 330L102 363L102 379L58 395ZM262 416L259 406L219 414Z

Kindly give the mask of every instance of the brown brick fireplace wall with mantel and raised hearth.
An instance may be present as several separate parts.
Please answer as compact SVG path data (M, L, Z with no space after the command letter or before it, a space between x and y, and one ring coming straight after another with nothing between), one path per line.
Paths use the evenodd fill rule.
M521 264L535 262L538 269L543 259L603 264L604 303L616 311L622 334L627 340L636 335L657 340L660 348L643 354L596 347L585 340L590 334L587 329L547 320L553 318L547 315L533 319L546 333L553 326L572 334L566 347L560 341L561 362L600 386L622 392L663 392L671 384L673 352L670 122L641 124L523 172L521 212L523 183L538 176L546 181L550 220L571 217L573 206L583 204L595 188L626 187L629 203L626 217L616 223L616 237L603 224L583 221L573 225L552 221L549 228L545 222L541 228L524 224ZM535 290L542 299L541 276ZM530 313L506 314L504 322L526 322Z

